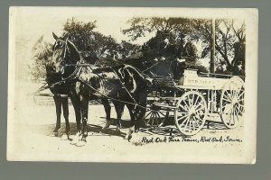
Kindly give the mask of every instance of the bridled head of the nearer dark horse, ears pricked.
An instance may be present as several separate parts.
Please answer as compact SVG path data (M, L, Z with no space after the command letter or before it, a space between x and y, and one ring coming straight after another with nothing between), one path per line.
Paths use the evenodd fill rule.
M69 65L76 65L80 61L79 50L69 40L67 36L59 38L52 32L52 36L55 42L52 46L52 55L49 62L49 67L54 73L63 75L67 69L74 69L75 66L69 67Z

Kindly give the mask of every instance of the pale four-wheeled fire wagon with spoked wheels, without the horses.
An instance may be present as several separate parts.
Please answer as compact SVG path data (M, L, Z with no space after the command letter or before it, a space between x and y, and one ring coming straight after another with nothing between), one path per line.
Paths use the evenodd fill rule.
M179 80L154 76L145 123L160 127L173 112L175 125L183 135L192 136L218 119L227 128L236 128L244 112L244 91L239 76L198 74L195 69L185 69Z

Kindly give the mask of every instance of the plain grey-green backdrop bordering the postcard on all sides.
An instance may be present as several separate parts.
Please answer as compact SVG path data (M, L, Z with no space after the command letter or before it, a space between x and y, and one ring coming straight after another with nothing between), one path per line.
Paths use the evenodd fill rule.
M1 94L1 99L4 101L1 101L1 104L4 108L1 110L1 118L4 117L4 120L1 119L1 175L4 175L5 179L14 179L13 177L21 176L25 177L25 179L36 179L40 177L41 175L45 178L60 178L62 177L70 177L75 178L76 176L80 175L81 177L100 177L103 176L103 178L111 178L111 179L137 179L136 176L134 176L131 171L133 169L138 169L138 171L141 172L142 176L147 175L149 178L152 179L163 179L167 176L171 177L183 177L189 179L189 177L195 179L200 178L208 179L208 177L213 177L216 179L229 179L229 178L240 178L240 179L268 179L270 177L270 134L267 133L267 130L270 128L270 122L268 117L268 100L270 100L270 97L268 96L268 92L270 92L270 86L267 86L268 84L268 76L270 76L270 73L267 71L267 69L270 67L270 61L268 62L267 59L270 57L269 52L269 46L268 43L270 41L270 37L268 36L268 29L270 29L270 23L268 23L268 16L270 16L270 13L268 12L268 9L270 7L270 4L266 3L267 1L260 1L255 4L252 3L252 1L247 1L247 4L241 3L241 1L227 1L224 3L217 3L215 4L213 1L204 1L204 2L198 2L198 4L191 3L189 1L184 2L183 4L178 4L176 2L170 1L168 4L164 4L163 2L155 2L157 6L233 6L233 7L259 7L260 8L260 49L259 49L259 113L258 113L258 143L257 143L257 165L255 166L211 166L211 165L120 165L120 164L63 164L63 163L10 163L5 162L5 137L6 137L6 123L5 123L5 117L6 117L6 88L4 88L4 93ZM3 1L1 2L2 4ZM48 2L46 2L47 4ZM262 3L262 4L261 4ZM17 3L16 5L19 5L21 3ZM42 3L33 3L36 5L41 5ZM52 3L51 3L52 4ZM57 2L55 4L58 4ZM67 3L72 4L72 3ZM73 2L73 5L76 5L77 3ZM95 4L95 3L94 3ZM132 4L132 5L131 5ZM45 5L45 4L43 4ZM53 5L53 4L52 4ZM87 5L87 4L85 4ZM114 2L111 5L127 5L124 2ZM136 3L130 3L131 6L138 5L138 2ZM147 6L152 6L151 4L146 4ZM266 8L263 8L263 7ZM1 37L7 37L7 5L3 5L1 7L5 7L5 10L2 12L5 15L1 16L2 19L5 19L5 26L1 26L1 32L2 29L5 30L5 35L1 34ZM262 11L261 11L262 10ZM266 19L266 21L261 21ZM2 22L1 22L2 23ZM264 31L265 30L265 31ZM5 47L7 44L7 39L1 39L4 40L1 44L2 47ZM5 42L5 43L4 43ZM7 48L1 49L1 55L6 55ZM7 56L3 56L4 61L1 61L1 67L7 67ZM3 82L4 85L1 85L2 87L6 85L6 75L7 72L5 70L1 71L1 83ZM266 99L266 101L262 101ZM1 106L1 107L2 107ZM4 142L4 143L3 143ZM46 168L49 170L49 172L42 171L42 168ZM90 170L91 169L91 170ZM196 169L196 170L195 170ZM88 171L87 171L88 170ZM14 173L16 172L16 174ZM107 172L107 173L104 173ZM152 172L152 173L150 173ZM210 172L210 173L207 173ZM27 178L28 177L28 178ZM36 177L36 178L35 178ZM250 178L249 178L250 177Z

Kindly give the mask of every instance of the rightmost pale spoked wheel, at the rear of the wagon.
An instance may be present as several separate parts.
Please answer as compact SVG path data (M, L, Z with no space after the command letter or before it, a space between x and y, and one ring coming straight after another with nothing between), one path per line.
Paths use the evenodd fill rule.
M244 81L238 76L230 78L220 98L220 117L227 128L236 128L240 124L244 113L244 98Z

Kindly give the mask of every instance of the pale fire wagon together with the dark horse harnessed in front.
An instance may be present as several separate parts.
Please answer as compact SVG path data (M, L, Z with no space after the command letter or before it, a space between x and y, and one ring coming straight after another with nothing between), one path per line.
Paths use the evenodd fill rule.
M51 58L46 69L48 75L61 76L61 80L46 88L69 85L67 94L75 109L77 132L79 136L82 134L83 141L86 141L88 135L88 104L93 97L115 102L117 127L126 104L131 116L128 139L132 137L135 121L142 120L144 115L147 125L159 127L164 124L170 112L174 113L177 129L187 136L196 134L206 122L218 118L227 128L238 127L244 112L245 96L244 81L239 76L198 74L197 70L186 68L185 60L171 58L168 61L164 58L154 59L153 64L149 60L145 64L135 59L134 66L127 62L125 64L128 65L125 65L123 61L116 67L107 64L93 66L85 63L70 40L62 40L56 35L54 38L56 42L53 47L59 50L53 52L58 56L52 57L59 58ZM112 62L116 64L118 61L113 58ZM153 69L156 74L152 72ZM152 85L148 85L146 76L152 79ZM104 129L109 126L108 112L107 116ZM67 127L66 133L69 135L70 128Z

